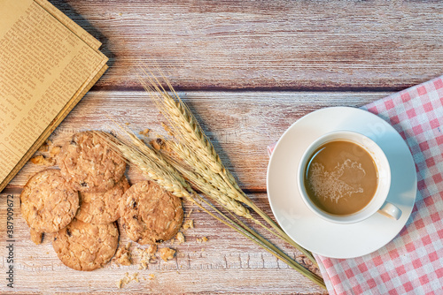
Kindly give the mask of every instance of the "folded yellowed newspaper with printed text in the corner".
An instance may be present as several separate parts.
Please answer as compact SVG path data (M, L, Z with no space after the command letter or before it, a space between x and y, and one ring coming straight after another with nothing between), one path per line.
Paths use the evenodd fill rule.
M0 0L0 191L106 69L86 32L44 6Z

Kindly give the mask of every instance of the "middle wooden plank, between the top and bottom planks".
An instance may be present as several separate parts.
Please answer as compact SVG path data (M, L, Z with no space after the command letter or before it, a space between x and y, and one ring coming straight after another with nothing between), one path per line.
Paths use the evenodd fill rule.
M229 170L246 190L266 191L266 147L308 112L330 106L361 106L385 92L186 92L184 102L198 117ZM111 118L130 123L133 131L162 132L165 121L144 92L89 92L51 135L61 145L74 132L108 129ZM164 132L163 132L164 133ZM42 166L27 165L8 189L22 187ZM131 172L130 172L131 173ZM129 175L131 176L131 175ZM137 179L136 176L133 177Z

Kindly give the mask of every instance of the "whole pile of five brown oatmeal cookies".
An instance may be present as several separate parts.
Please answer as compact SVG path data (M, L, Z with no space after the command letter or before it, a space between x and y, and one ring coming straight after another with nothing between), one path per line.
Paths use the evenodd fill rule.
M21 213L36 244L52 246L69 268L93 270L113 258L120 218L139 244L173 238L183 223L182 200L152 181L129 188L125 160L95 132L74 134L57 159L60 170L36 173L21 195Z

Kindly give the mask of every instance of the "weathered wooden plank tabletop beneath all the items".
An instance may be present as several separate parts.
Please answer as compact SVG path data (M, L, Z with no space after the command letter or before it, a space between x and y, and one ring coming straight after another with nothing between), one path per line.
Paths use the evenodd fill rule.
M136 79L137 63L157 64L239 184L270 215L266 147L299 117L324 107L359 107L443 72L443 3L438 1L51 3L103 42L110 57L109 70L51 135L56 145L79 130L105 128L106 115L130 122L134 131L159 132L163 118ZM172 246L173 261L158 260L145 270L114 262L89 273L68 269L49 238L32 244L19 216L21 188L42 169L27 163L2 193L2 253L7 194L15 196L17 208L16 293L325 293L195 209L190 218L196 227L185 231L186 243ZM135 170L128 178L131 183L143 179ZM187 213L190 208L185 204ZM198 243L202 237L209 241ZM120 244L127 241L121 232ZM3 255L3 274L6 267ZM126 272L155 278L117 289L115 282ZM0 277L0 291L12 291Z

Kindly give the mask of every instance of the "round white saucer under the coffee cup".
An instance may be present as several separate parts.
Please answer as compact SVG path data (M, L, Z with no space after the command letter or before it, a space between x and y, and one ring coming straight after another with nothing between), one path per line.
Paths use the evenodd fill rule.
M392 173L387 200L403 212L399 220L376 213L360 223L330 223L301 200L301 155L315 139L337 130L361 132L383 149ZM354 258L385 246L406 224L416 201L416 165L400 134L382 118L354 108L326 108L300 118L284 132L269 161L267 186L277 222L300 246L326 257Z

